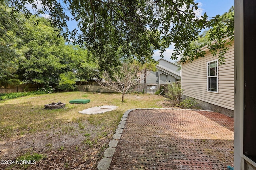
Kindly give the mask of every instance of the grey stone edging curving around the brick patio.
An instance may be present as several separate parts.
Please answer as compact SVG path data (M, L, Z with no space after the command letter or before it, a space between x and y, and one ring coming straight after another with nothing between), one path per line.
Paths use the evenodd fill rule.
M193 110L193 111L209 111L209 112L213 112L211 110L197 110L197 109L176 109L176 108L143 108L143 109L147 109L147 110L152 110L152 109L161 109L161 110ZM116 129L116 133L113 135L113 140L111 140L108 143L108 148L105 150L104 152L104 158L102 158L100 160L100 162L98 162L98 170L108 170L111 161L112 161L112 156L114 155L114 152L116 150L117 144L119 139L121 139L121 135L123 133L124 130L124 125L126 123L126 118L128 117L128 114L130 113L130 111L133 110L140 110L140 109L130 109L124 112L123 117L121 118L121 121L119 122L118 128Z

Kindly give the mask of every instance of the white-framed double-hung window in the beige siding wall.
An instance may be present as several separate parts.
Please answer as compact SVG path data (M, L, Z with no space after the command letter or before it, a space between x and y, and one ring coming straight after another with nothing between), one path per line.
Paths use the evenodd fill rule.
M207 91L218 92L218 61L207 63Z

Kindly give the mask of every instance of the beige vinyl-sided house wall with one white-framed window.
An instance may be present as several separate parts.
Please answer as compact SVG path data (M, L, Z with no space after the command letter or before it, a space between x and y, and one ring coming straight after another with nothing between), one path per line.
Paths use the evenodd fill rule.
M218 64L218 56L213 56L208 49L203 50L206 51L204 58L182 64L183 98L198 100L202 109L230 112L233 115L234 42L224 56L226 59L223 65Z

